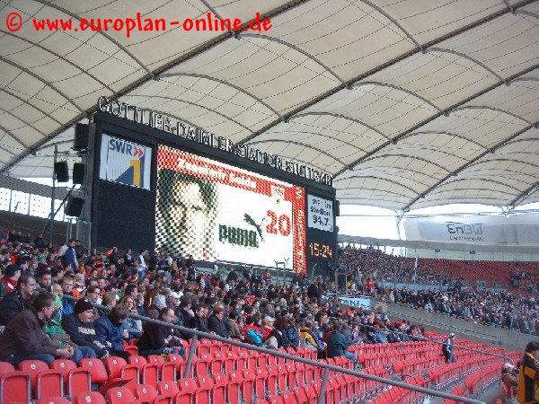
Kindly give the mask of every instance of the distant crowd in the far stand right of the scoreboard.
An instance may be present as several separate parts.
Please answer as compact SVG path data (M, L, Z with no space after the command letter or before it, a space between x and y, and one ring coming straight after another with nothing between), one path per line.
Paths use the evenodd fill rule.
M534 294L521 295L507 289L479 288L464 282L462 277L433 275L430 268L416 268L413 259L395 257L375 249L360 250L347 246L340 250L340 263L348 270L348 288L353 294L367 294L376 298L384 296L389 303L539 335ZM534 274L512 277L531 279ZM395 279L400 284L438 286L425 289L410 285L399 288L392 285Z

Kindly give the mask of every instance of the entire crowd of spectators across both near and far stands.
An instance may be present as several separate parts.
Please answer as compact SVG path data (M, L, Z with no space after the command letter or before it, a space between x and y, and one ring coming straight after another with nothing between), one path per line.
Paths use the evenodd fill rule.
M451 279L446 279L451 285L445 291L393 288L387 284L388 274L406 276L409 261L379 250L348 248L340 254L341 263L355 271L355 275L350 272L350 289L379 300L368 311L343 308L336 298L323 299L334 292L330 277L297 277L282 285L271 281L270 272L258 268L225 268L216 263L200 272L191 256L174 258L166 251L133 253L126 249L121 253L112 247L98 252L84 250L76 240L56 249L41 235L18 237L14 231L0 242L0 326L5 327L4 335L13 338L13 324L21 322L22 312L26 316L32 312L58 349L52 356L88 356L88 349L79 352L84 347L100 358L128 357L124 341L130 339L138 340L143 355L185 355L183 341L192 334L166 323L271 349L311 347L319 357L340 356L352 344L425 338L420 325L389 319L387 304L391 303L523 332L526 321L531 327L530 320L536 320L533 298L465 288ZM415 271L415 275L430 277L425 271ZM75 303L66 296L79 300ZM48 302L52 302L50 306ZM135 320L130 313L163 323ZM5 337L0 338L4 343ZM32 355L22 344L17 349ZM47 355L52 352L49 349Z

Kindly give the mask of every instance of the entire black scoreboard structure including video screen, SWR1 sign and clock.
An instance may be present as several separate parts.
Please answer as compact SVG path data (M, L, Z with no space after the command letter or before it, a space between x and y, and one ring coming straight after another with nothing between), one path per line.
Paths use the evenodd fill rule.
M335 189L313 169L272 155L262 163L247 145L208 136L197 143L112 115L94 119L93 245L270 268L287 262L308 276L335 266Z

